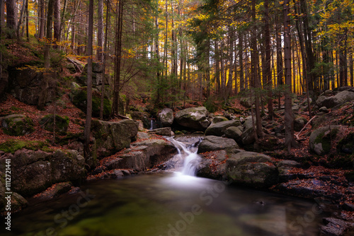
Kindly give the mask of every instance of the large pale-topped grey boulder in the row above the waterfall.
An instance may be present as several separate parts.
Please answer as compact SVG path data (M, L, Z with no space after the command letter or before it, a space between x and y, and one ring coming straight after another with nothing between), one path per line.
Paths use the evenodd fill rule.
M209 126L207 119L209 112L205 107L191 107L176 112L176 122L190 129L204 131Z

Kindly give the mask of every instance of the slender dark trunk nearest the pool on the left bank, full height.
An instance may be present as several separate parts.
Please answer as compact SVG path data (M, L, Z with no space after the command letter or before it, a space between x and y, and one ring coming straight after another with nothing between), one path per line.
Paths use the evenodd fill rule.
M93 41L93 0L89 1L89 35L87 39L87 109L84 130L84 156L88 160L91 157L90 136L92 119L92 41Z

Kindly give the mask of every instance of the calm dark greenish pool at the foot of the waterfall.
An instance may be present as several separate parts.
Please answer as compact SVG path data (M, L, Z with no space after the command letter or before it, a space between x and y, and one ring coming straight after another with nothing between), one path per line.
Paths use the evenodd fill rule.
M178 172L89 182L36 203L1 235L319 235L316 203Z

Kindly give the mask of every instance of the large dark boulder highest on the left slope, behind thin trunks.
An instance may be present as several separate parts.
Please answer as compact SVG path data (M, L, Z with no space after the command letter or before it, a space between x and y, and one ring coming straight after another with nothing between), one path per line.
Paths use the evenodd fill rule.
M33 69L8 69L8 90L17 100L29 105L43 105L54 100L57 87L57 73L50 73L47 79L43 72Z

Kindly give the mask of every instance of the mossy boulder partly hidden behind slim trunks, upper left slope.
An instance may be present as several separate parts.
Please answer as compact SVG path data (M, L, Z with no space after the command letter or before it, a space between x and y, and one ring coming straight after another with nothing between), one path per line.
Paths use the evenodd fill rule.
M86 87L73 90L70 94L72 103L81 111L86 113L87 109L87 90ZM97 91L92 93L92 116L99 117L101 109L101 94ZM103 117L108 117L112 109L112 102L108 98L103 99Z

